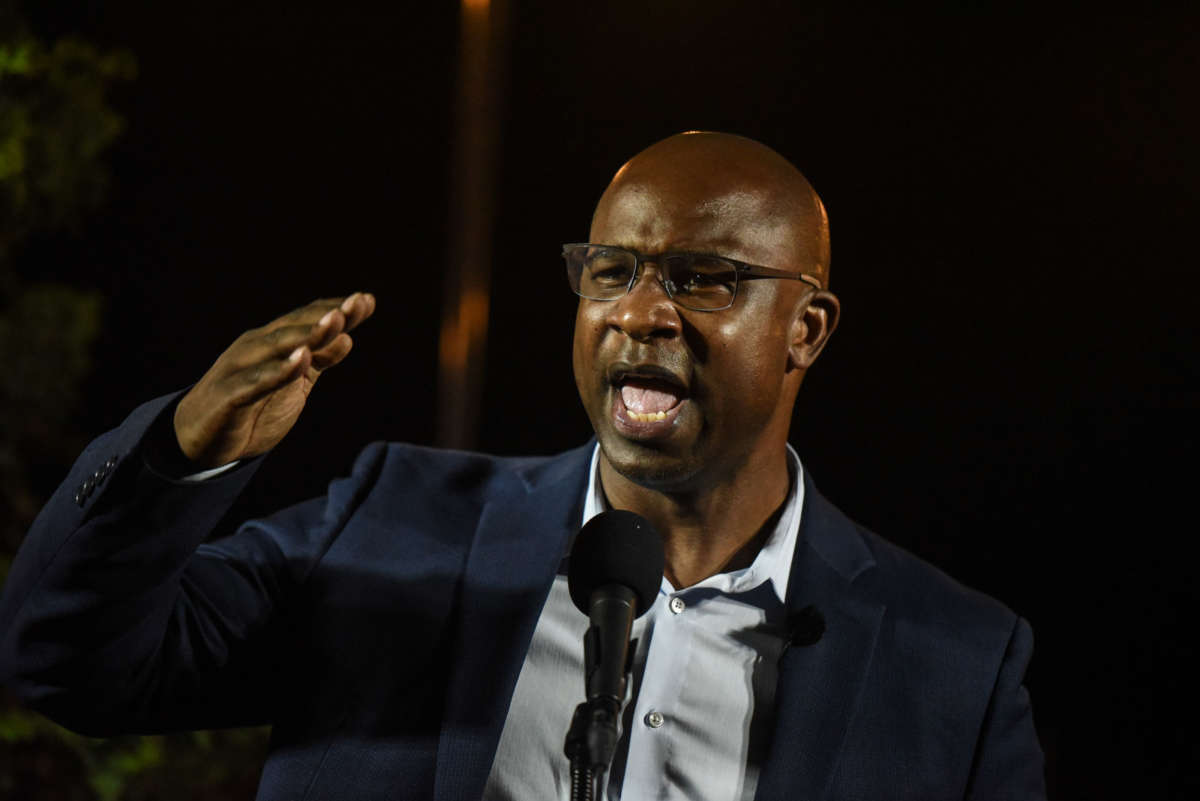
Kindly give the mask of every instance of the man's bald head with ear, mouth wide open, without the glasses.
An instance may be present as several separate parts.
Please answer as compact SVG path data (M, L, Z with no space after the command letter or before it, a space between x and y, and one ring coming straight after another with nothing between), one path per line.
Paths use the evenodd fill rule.
M589 241L727 257L828 285L829 228L812 187L775 151L730 134L678 134L630 159L600 198ZM732 307L697 312L660 278L652 258L626 295L580 300L575 381L605 458L664 492L781 459L836 297L802 281L743 278Z

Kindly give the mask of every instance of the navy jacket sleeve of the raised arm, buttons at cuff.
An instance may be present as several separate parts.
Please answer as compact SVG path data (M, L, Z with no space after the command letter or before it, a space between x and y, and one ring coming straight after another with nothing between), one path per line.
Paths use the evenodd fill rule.
M326 498L203 544L250 481L145 460L174 397L98 438L38 514L0 598L0 682L83 734L266 723L287 654L277 625L367 492L382 446Z

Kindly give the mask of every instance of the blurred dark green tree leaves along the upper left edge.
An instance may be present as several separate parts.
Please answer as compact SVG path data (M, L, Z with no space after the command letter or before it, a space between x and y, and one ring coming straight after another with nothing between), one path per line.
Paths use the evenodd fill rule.
M0 11L0 578L44 500L30 465L70 464L78 451L71 414L103 309L95 293L22 276L19 246L78 229L100 206L101 157L125 125L108 94L136 73L127 52L78 38L47 46Z

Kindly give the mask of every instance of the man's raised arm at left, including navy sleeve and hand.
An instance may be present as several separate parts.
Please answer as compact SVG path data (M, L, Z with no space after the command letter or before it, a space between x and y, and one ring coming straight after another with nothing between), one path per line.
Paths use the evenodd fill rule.
M162 454L174 448L194 471L206 466L197 456L228 462L274 446L319 374L313 365L341 361L344 330L373 309L373 300L355 307L362 297L319 301L247 332L178 406L174 398L145 404L84 451L5 583L0 681L89 734L264 719L270 693L258 680L264 658L278 654L274 613L336 536L346 498L361 493L347 486L353 477L335 482L328 500L244 526L232 549L202 547L253 464L187 482L175 477L184 475L178 464L163 470ZM301 357L289 359L298 349ZM283 403L298 387L299 404ZM187 453L181 430L199 450ZM360 468L380 451L368 448ZM373 471L354 475L361 483Z

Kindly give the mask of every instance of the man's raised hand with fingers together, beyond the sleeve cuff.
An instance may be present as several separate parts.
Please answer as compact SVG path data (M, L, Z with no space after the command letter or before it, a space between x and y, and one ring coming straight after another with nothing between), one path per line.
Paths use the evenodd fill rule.
M292 429L320 374L346 359L374 296L326 297L238 337L175 408L184 454L215 468L265 453Z

